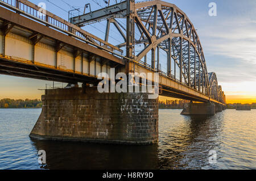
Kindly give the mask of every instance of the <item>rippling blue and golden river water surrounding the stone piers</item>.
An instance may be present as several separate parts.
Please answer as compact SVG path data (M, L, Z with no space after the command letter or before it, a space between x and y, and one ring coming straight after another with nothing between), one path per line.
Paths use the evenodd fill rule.
M256 110L210 117L159 110L159 143L149 146L34 140L40 112L0 109L0 169L256 169Z

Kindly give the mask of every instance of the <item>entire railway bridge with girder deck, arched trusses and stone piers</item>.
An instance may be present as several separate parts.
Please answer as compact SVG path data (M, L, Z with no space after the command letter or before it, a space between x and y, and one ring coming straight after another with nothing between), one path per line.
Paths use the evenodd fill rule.
M187 111L197 112L202 105L205 112L212 106L215 110L225 106L225 94L216 74L208 73L195 27L171 3L121 1L72 16L68 21L26 0L0 0L0 5L0 74L97 85L98 73L105 72L110 77L111 68L116 73L159 73L160 95L205 103L197 104L197 108L191 103ZM106 22L105 40L82 29L100 21ZM122 43L110 43L112 28ZM152 77L147 81L156 80ZM158 140L158 100L148 100L143 94L98 94L92 87L47 90L42 96L42 115L31 135L126 143ZM104 100L103 107L93 100ZM55 109L52 105L56 104ZM68 104L66 109L73 112L61 112L63 104ZM78 115L88 115L84 121L89 119L89 123L72 118L77 117L74 109L79 110ZM114 117L103 113L99 116L98 111L113 112ZM68 125L60 126L67 120ZM84 129L77 128L80 124Z

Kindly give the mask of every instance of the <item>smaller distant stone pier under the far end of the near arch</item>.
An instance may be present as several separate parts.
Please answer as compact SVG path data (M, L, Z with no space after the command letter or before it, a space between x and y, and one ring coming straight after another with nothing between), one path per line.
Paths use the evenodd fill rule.
M185 104L181 115L214 115L214 103L188 103Z

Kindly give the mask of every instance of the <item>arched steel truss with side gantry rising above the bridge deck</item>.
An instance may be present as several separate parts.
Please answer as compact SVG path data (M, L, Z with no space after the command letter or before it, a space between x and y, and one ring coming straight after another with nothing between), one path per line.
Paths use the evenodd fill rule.
M120 18L126 19L126 28L119 22ZM225 103L216 74L207 71L199 35L178 7L159 0L129 0L73 17L70 21L82 27L104 19L107 22L105 41L109 40L110 23L113 23L112 27L123 39L117 47L126 48L127 60L139 62Z

